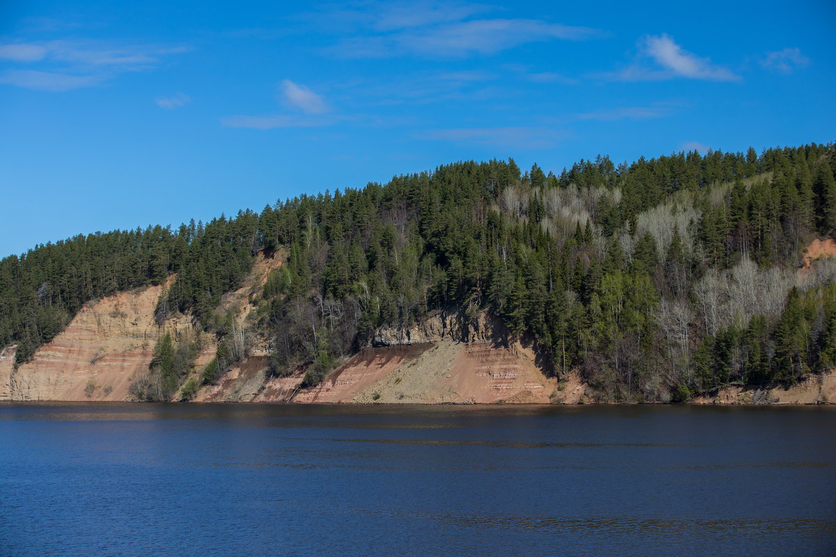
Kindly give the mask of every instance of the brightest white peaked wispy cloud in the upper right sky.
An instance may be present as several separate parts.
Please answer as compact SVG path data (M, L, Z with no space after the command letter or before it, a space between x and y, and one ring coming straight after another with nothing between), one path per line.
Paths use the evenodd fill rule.
M653 65L648 66L648 63ZM740 81L731 70L690 53L669 35L647 35L639 40L639 57L635 63L614 73L599 77L619 81L652 81L657 79L690 78L709 81Z

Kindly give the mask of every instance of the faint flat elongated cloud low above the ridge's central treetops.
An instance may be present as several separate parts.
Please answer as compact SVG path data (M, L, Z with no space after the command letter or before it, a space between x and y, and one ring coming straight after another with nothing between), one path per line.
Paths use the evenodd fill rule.
M449 141L459 145L492 145L515 149L549 149L565 134L557 129L511 126L501 128L431 129L415 134L416 139Z

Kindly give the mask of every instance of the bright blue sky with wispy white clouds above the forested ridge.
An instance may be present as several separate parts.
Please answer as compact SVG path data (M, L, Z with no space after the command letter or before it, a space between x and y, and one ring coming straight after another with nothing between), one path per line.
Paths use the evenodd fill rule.
M830 1L6 0L0 256L456 160L827 143L834 53Z

